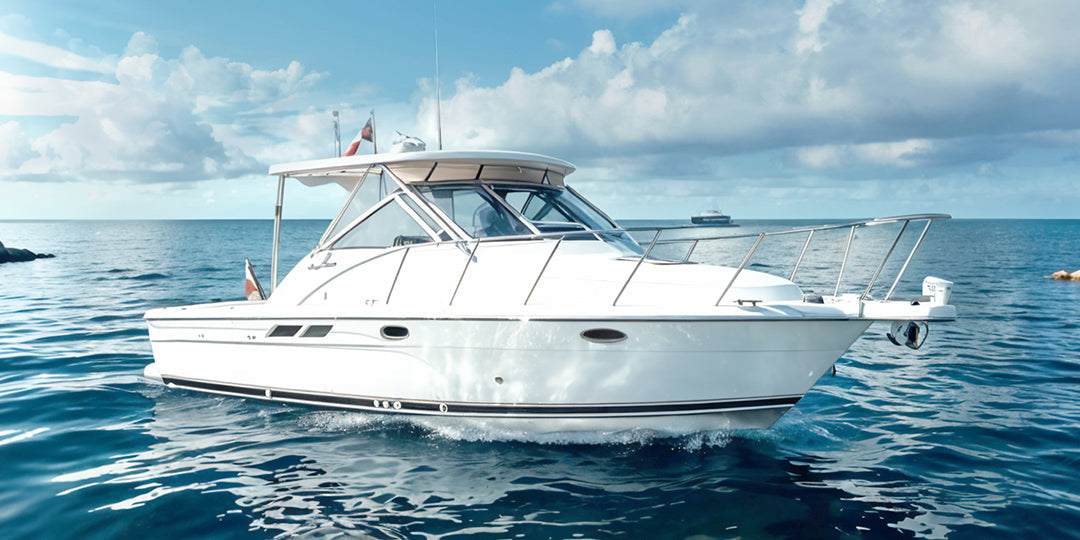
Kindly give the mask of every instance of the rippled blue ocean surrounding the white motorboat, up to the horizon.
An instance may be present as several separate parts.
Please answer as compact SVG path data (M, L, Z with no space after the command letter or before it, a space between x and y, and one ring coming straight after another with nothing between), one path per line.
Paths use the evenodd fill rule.
M737 216L738 219L738 216ZM732 233L789 224L745 222ZM326 221L284 224L283 271ZM267 220L0 221L3 538L1080 538L1080 220L935 224L919 350L874 325L773 428L528 438L166 389L143 314L269 281Z

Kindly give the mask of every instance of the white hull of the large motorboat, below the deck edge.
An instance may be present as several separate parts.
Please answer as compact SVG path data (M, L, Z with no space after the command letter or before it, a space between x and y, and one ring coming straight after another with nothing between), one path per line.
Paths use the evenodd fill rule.
M534 433L768 428L870 324L842 318L148 322L156 357L148 375L171 387ZM271 336L283 326L299 329ZM302 337L319 326L330 328ZM407 337L388 337L388 327ZM582 337L597 328L625 338Z

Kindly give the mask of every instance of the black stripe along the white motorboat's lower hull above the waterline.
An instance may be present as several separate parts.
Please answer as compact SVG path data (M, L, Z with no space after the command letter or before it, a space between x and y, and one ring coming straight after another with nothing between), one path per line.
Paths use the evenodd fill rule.
M244 395L258 399L278 399L296 401L311 404L343 406L351 408L363 408L369 410L382 410L394 413L413 414L449 414L449 415L485 415L485 416L539 416L539 417L565 417L565 416L651 416L660 414L707 414L725 410L753 409L753 408L775 408L791 407L798 401L799 396L758 397L750 400L727 400L713 402L693 403L654 403L654 404L606 404L606 405L497 405L497 404L468 404L468 403L434 403L421 401L402 401L376 397L353 397L334 394L318 394L308 392L297 392L288 390L271 390L267 395L266 389L252 387L241 387L234 384L221 384L217 382L195 381L188 379L164 378L166 384L192 390L205 390L208 392L219 392L235 395ZM386 405L382 405L386 404ZM400 408L390 404L400 404ZM441 410L445 406L446 410Z

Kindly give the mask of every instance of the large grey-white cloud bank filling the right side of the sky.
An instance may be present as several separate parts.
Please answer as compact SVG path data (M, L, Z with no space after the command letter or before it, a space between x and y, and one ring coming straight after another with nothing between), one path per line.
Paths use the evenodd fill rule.
M670 5L638 1L632 11ZM576 55L535 72L515 68L502 84L457 81L443 104L444 136L586 164L599 162L591 156L772 151L804 172L903 171L974 170L1008 158L1005 138L1024 147L1032 134L1080 129L1075 2L677 5L683 15L651 42L600 29ZM418 118L431 110L423 104ZM976 148L987 141L989 150Z

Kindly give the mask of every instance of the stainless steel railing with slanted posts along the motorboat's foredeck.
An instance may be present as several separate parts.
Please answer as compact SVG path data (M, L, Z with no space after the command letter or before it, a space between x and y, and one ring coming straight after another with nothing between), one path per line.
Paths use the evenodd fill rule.
M907 267L910 264L912 258L915 256L915 253L918 251L919 246L922 244L922 240L926 238L927 231L930 229L930 224L932 224L933 221L946 220L946 219L951 219L951 216L949 216L947 214L912 214L912 215L904 215L904 216L893 216L893 217L881 217L881 218L874 218L874 219L864 219L864 220L861 220L861 221L853 221L853 222L846 222L846 224L822 225L822 226L816 226L816 227L804 227L804 228L796 228L796 229L785 229L785 230L781 230L781 231L769 231L769 232L746 233L746 234L723 234L723 235L694 238L694 239L666 239L666 240L661 240L660 239L660 237L663 234L664 231L688 230L688 229L694 229L694 227L691 227L691 226L675 226L675 227L627 227L627 228L618 228L618 229L602 229L602 230L589 229L589 230L576 230L576 231L546 232L546 233L538 233L538 234L515 234L515 235L505 235L505 237L489 237L489 238L469 239L469 240L436 241L436 242L432 242L431 244L428 244L428 245L456 244L456 245L461 245L461 246L463 246L465 248L463 251L468 254L468 259L465 260L465 264L464 264L463 268L461 269L461 274L458 276L457 286L455 286L455 288L454 288L454 294L450 296L449 305L453 305L454 300L457 298L458 289L460 289L461 283L464 281L465 273L469 271L469 267L472 264L473 259L475 258L475 254L476 254L477 249L480 248L481 244L496 243L496 242L530 241L530 240L557 240L557 242L555 243L555 245L552 247L551 253L544 259L544 264L540 268L540 271L537 273L536 279L532 281L532 286L529 288L528 295L525 297L525 300L524 300L523 305L528 305L529 299L531 299L531 297L532 297L532 293L536 292L537 285L540 283L541 278L543 278L544 272L548 270L548 267L549 267L549 264L552 260L552 257L555 256L555 252L558 251L558 247L562 245L562 243L563 243L564 240L566 240L568 238L573 238L573 237L599 238L599 237L603 237L603 235L606 235L606 234L612 234L612 235L620 234L621 235L621 234L627 234L630 232L656 231L654 234L652 235L652 240L649 242L648 247L642 253L640 257L637 258L637 261L635 262L634 268L631 270L631 272L626 276L626 279L622 282L622 286L619 288L619 293L616 295L615 300L611 302L611 306L617 306L619 303L619 299L622 297L623 293L626 291L626 287L630 286L631 281L634 279L634 275L637 273L637 270L649 258L649 255L652 253L653 248L656 246L658 246L658 245L671 245L671 244L689 243L690 247L687 251L686 256L684 256L683 259L681 259L681 262L687 262L687 261L689 261L690 256L693 254L694 249L698 247L698 245L701 242L719 241L719 240L750 239L750 238L755 239L754 244L746 252L746 255L743 257L742 262L739 265L739 267L732 273L732 275L728 280L727 284L725 284L723 293L720 293L720 296L716 299L716 302L714 303L714 306L719 306L720 302L724 301L724 297L731 289L732 285L734 285L734 282L739 278L739 274L742 273L743 269L746 268L746 265L754 257L754 254L757 252L758 246L760 246L761 242L765 239L767 239L767 238L770 238L770 237L781 237L781 235L787 235L787 234L801 234L801 233L807 234L807 240L802 244L802 248L799 252L798 257L796 258L795 267L792 269L792 273L791 273L789 278L788 278L788 281L794 281L795 280L795 275L796 275L796 273L799 270L799 266L802 262L802 258L804 258L804 256L807 253L807 248L810 246L810 243L813 240L815 233L819 233L819 232L822 232L822 231L829 231L829 230L849 229L848 240L847 240L847 243L845 245L843 260L840 264L839 275L837 276L837 280L836 280L836 288L835 288L835 291L833 293L834 296L837 296L837 295L839 295L840 283L843 280L843 273L845 273L845 270L846 270L846 268L848 266L848 259L849 259L850 254L851 254L851 245L852 245L852 242L854 240L855 230L859 229L859 228L863 228L863 227L876 227L876 226L888 225L888 224L903 224L901 226L900 232L896 234L895 239L892 241L892 244L889 246L889 251L881 258L880 264L878 265L877 269L874 272L874 276L870 278L869 284L867 284L866 288L860 295L859 299L860 299L860 301L862 301L862 300L866 299L866 297L869 295L870 291L874 288L874 285L877 283L878 279L881 276L881 272L885 270L885 267L888 264L889 258L892 256L893 252L896 248L896 245L900 243L900 240L903 238L904 232L907 230L907 226L910 222L913 222L913 221L926 221L926 225L922 228L922 232L919 234L918 240L916 240L915 245L908 252L907 258L904 260L904 264L901 267L900 271L897 272L896 278L893 280L892 285L889 287L889 292L885 296L885 299L889 300L890 298L892 298L892 294L895 291L896 286L900 284L901 279L903 279L904 272L907 270ZM469 244L472 244L472 246L470 247ZM393 253L403 252L402 253L401 261L399 262L399 266L397 266L397 272L394 274L394 280L393 280L393 282L390 285L390 291L387 293L386 303L389 305L390 303L390 298L393 296L394 287L397 285L397 278L401 275L402 267L405 265L405 258L408 256L409 249L411 249L414 247L418 247L418 246L417 245L396 246L396 247L393 247L391 249L387 249L387 251L384 251L382 253L379 253L378 255L376 255L374 257L370 257L368 259L364 259L364 260L362 260L362 261L360 261L360 262L357 262L355 265L352 265L351 267L349 267L347 269L343 269L341 272L339 272L335 276L333 276L329 280L327 280L326 282L324 282L319 287L315 287L314 291L312 291L311 293L309 293L307 296L303 297L303 299L300 300L300 303L303 303L305 301L307 301L308 298L310 298L312 295L314 295L322 287L326 286L326 284L328 284L329 282L334 281L335 279L337 279L340 275L343 275L343 274L348 273L349 270L352 270L353 268L366 265L367 262L370 262L373 260L386 257L386 256L391 255Z

